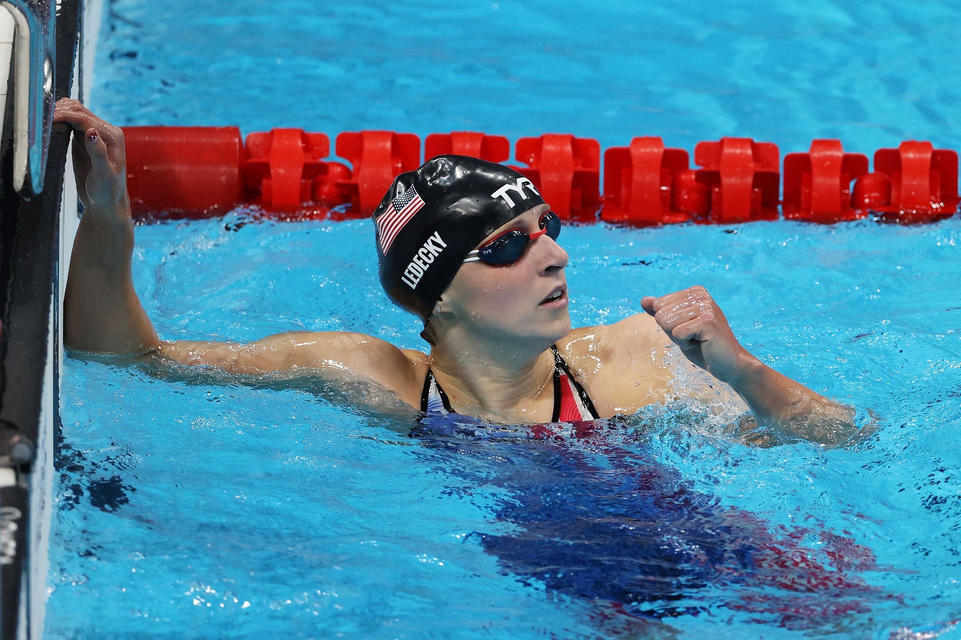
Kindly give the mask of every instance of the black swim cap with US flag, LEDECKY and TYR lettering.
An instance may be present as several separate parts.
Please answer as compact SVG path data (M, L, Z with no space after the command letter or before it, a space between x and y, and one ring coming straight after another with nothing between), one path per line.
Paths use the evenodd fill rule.
M374 211L381 284L426 323L467 253L543 204L530 179L466 155L438 155L394 178Z

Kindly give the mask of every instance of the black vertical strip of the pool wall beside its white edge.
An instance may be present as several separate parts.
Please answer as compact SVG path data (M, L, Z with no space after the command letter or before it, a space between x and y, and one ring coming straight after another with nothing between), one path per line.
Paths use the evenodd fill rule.
M62 0L54 76L58 98L70 95L80 15L81 0ZM5 147L9 144L2 142ZM66 128L53 130L43 192L30 200L12 190L11 153L4 154L0 167L0 467L12 468L17 474L15 485L0 488L2 640L15 638L18 627L29 637L29 473L41 426L44 371L48 360L53 363L57 358L47 347L51 304L58 295L60 209L68 142ZM56 350L57 341L54 344ZM55 372L55 386L57 379ZM56 398L56 388L53 391ZM56 400L51 409L53 419L59 420ZM19 618L21 610L28 619Z

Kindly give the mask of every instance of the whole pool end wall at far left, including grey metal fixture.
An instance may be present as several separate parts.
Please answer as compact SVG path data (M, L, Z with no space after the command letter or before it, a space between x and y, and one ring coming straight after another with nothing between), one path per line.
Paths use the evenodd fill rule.
M50 118L54 98L70 95L80 7L80 0L0 0L0 12L15 16L12 35L0 37L0 54L12 54L0 55L10 66L5 120L11 125L0 128L2 640L43 633L59 425L61 236L71 228L69 217L74 228L77 217L76 189L63 188L64 171L72 176L69 132L51 130Z

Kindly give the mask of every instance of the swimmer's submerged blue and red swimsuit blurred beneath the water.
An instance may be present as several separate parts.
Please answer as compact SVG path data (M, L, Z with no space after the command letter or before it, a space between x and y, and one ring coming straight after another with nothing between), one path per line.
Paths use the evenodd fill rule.
M474 535L505 574L596 601L603 618L727 609L816 628L894 597L857 575L875 569L867 547L773 526L692 489L654 458L658 431L650 415L516 428L444 415L410 436L443 473L500 489L493 520L512 531Z

